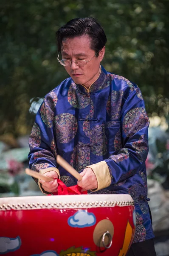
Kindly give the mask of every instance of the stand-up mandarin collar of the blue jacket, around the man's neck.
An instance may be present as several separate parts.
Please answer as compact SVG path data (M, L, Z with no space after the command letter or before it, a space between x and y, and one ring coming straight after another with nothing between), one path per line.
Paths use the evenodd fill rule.
M107 80L107 72L103 66L101 66L101 73L98 79L89 87L89 92L87 92L86 88L82 84L76 84L76 89L80 93L95 93L98 90L103 89L105 81Z

